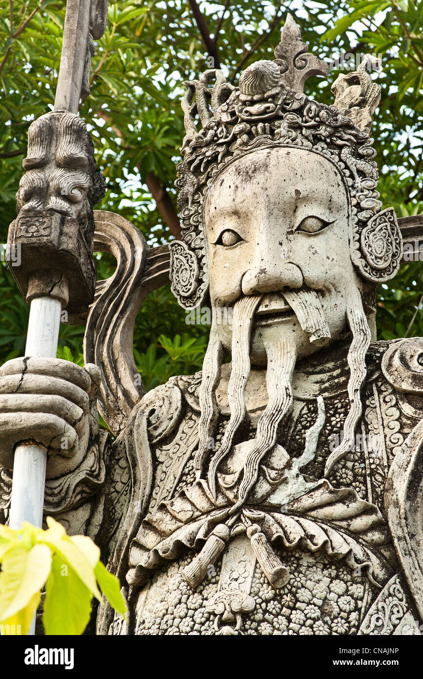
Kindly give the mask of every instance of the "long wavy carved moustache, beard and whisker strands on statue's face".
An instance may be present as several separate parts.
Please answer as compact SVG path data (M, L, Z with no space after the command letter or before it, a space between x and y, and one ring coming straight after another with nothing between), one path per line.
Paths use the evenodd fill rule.
M283 294L285 295L285 292ZM253 320L261 299L261 295L241 297L234 305L232 371L227 389L231 415L223 435L221 447L211 458L208 468L208 487L213 496L216 495L219 464L231 451L234 437L247 418L244 389L251 369L250 344ZM310 342L315 339L330 337L323 308L318 295L314 291L304 289L289 291L289 293L286 293L286 299L293 308L301 327L310 335ZM351 445L354 443L355 428L361 418L360 391L366 375L365 354L370 343L370 329L363 310L361 295L356 288L350 291L347 319L352 331L352 344L348 352L348 365L351 373L348 382L348 396L351 405L344 423L344 439L341 445L329 456L325 475L351 449ZM289 415L293 405L291 382L297 358L295 344L287 339L276 337L272 339L272 342L265 344L265 351L268 356L266 384L269 401L257 424L255 443L244 462L244 475L238 491L238 500L231 510L232 513L245 502L251 488L253 488L259 473L259 464L276 444L278 427L284 418ZM213 450L212 442L218 417L215 390L221 378L222 360L223 347L217 333L217 320L213 315L210 341L204 358L203 378L200 386L200 441L194 457L197 479L202 475L204 462Z

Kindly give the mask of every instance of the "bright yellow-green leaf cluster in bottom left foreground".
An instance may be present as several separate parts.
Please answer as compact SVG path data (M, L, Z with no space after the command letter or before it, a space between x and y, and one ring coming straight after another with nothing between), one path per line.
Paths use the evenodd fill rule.
M90 621L92 597L101 600L98 587L125 615L119 581L100 562L91 538L69 538L51 517L47 525L47 530L26 523L20 530L0 525L0 625L27 634L44 585L45 634L82 634Z

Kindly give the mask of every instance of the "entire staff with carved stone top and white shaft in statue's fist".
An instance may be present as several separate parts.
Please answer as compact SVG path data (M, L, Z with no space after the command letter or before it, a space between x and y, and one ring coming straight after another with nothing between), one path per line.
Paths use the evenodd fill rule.
M92 204L103 192L97 190L101 181L92 142L77 113L81 95L89 92L92 37L103 35L106 20L107 0L67 0L54 111L29 128L18 216L7 239L11 251L22 248L21 265L11 270L31 304L25 348L29 359L54 358L62 309L69 320L79 318L94 299ZM48 450L38 441L34 431L33 440L14 448L11 528L20 528L22 521L42 525ZM34 631L35 619L29 634Z

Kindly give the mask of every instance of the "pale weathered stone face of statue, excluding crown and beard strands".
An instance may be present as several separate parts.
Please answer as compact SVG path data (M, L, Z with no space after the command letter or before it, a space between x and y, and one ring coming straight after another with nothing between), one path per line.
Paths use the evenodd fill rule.
M346 330L351 287L360 287L350 259L348 198L328 160L306 149L261 149L233 162L208 191L204 223L213 308L242 295L265 295L256 312L251 358L265 363L263 339L294 339L297 358ZM318 294L331 339L310 343L280 292L306 286ZM220 314L225 348L232 328Z

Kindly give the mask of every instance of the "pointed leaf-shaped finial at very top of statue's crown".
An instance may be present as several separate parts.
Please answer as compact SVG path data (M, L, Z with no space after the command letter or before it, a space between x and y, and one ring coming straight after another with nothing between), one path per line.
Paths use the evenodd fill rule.
M298 94L303 94L304 83L312 75L328 75L327 63L308 52L308 46L301 39L299 26L291 14L287 14L280 43L274 51L280 67L280 79L284 85Z

